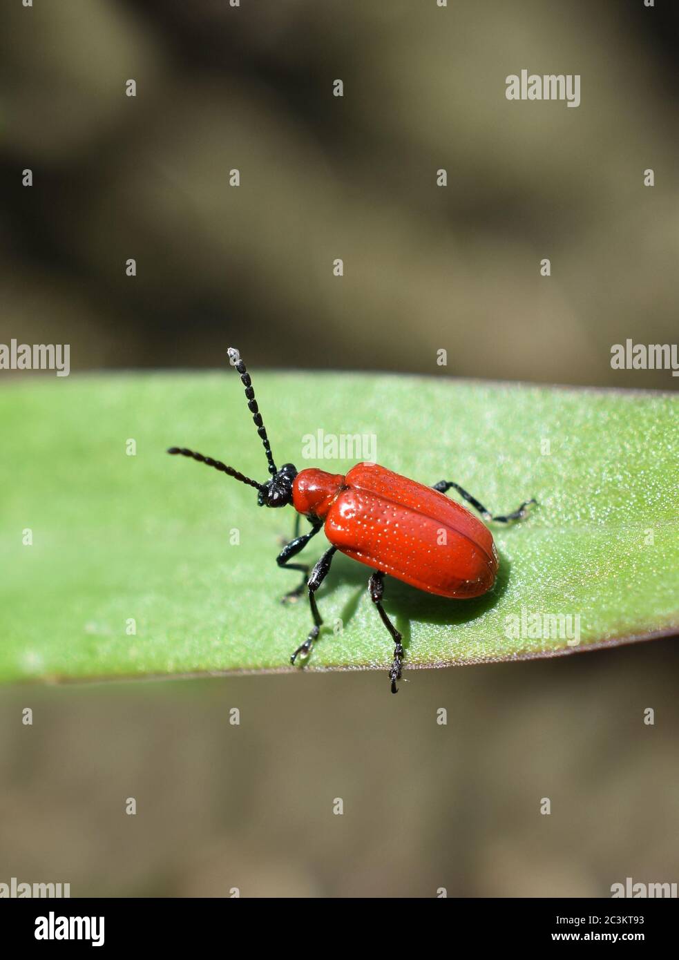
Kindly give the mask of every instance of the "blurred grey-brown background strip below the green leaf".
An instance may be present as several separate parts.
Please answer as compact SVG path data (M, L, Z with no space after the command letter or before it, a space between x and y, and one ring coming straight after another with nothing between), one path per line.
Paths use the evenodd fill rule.
M678 653L411 670L396 697L373 672L4 689L0 879L117 897L677 882Z

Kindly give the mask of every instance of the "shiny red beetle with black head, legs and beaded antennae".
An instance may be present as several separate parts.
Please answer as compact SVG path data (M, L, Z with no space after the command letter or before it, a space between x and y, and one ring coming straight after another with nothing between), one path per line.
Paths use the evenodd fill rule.
M398 692L403 647L401 635L382 607L384 575L389 574L427 593L455 599L480 596L495 583L497 550L490 530L466 507L445 495L451 488L471 503L484 520L511 523L521 519L534 499L506 516L492 516L486 508L458 484L441 480L433 487L408 480L376 464L357 464L342 476L325 470L297 471L292 464L278 469L274 463L266 428L255 400L252 380L238 350L229 349L230 363L245 387L248 407L257 433L264 444L270 479L257 483L219 460L204 457L185 447L173 446L167 452L192 457L199 463L228 473L258 492L260 507L286 507L292 504L297 519L305 516L311 530L296 536L280 551L279 566L303 573L300 586L286 593L283 600L299 597L308 591L314 625L304 642L290 658L292 663L307 657L319 635L323 620L314 596L327 576L333 555L339 550L361 564L372 566L375 573L368 583L371 599L382 623L394 640L394 661L389 670L392 693ZM323 528L331 546L318 563L290 564L309 540Z

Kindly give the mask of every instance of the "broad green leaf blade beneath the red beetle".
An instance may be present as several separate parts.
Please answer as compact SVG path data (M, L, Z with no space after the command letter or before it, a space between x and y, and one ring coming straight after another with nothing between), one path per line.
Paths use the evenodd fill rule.
M496 525L500 571L486 596L446 600L386 579L406 669L679 627L674 397L307 372L255 372L255 388L279 465L344 472L351 461L304 460L304 435L375 435L385 467L455 480L495 512L537 497L524 521ZM310 626L305 601L279 603L298 582L274 562L292 510L259 509L252 489L165 453L186 445L266 478L229 368L17 378L0 391L0 416L1 679L291 669ZM323 545L312 541L311 561ZM388 666L368 576L335 558L309 670ZM529 636L534 614L570 615L571 634L579 617L579 644L558 636L563 620Z

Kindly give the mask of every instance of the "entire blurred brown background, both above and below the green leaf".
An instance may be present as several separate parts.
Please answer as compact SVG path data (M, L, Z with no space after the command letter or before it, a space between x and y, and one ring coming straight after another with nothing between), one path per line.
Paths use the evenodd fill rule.
M70 343L74 370L216 366L236 343L254 370L441 374L447 348L444 374L679 383L610 367L627 337L676 339L676 10L16 0L2 16L0 342ZM508 102L522 68L579 73L580 107ZM667 639L413 672L395 698L371 673L6 688L0 881L293 897L677 881L676 667Z

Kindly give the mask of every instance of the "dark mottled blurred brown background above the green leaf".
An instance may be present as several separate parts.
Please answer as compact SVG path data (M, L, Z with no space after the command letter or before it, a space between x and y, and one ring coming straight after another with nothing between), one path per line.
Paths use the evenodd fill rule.
M448 348L453 374L673 389L610 367L676 337L658 6L6 5L0 342L58 334L74 369L215 366L233 341L258 367L440 373ZM580 106L507 101L522 68L580 74Z

